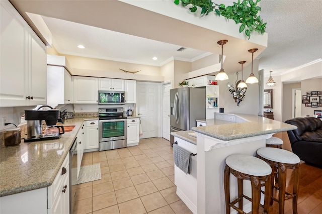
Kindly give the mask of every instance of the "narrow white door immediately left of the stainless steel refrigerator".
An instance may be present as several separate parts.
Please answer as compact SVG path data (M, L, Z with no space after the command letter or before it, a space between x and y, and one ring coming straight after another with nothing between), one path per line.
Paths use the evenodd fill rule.
M170 141L170 89L171 83L162 85L162 137Z

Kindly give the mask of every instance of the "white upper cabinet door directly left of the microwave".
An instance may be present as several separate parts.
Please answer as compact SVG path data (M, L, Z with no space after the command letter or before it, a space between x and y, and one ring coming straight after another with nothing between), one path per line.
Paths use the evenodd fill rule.
M98 103L98 78L74 76L74 103Z

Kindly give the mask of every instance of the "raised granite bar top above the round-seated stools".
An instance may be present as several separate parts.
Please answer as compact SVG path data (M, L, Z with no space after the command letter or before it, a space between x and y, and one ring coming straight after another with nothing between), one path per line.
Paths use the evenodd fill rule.
M259 117L255 115L246 114L231 114L241 119L244 123L229 123L221 125L208 125L204 127L193 127L192 130L213 138L224 141L235 140L240 138L247 138L277 132L284 132L297 129L296 126L274 121L268 118ZM212 119L214 120L214 119ZM218 121L218 120L214 120ZM228 122L228 121L226 121Z

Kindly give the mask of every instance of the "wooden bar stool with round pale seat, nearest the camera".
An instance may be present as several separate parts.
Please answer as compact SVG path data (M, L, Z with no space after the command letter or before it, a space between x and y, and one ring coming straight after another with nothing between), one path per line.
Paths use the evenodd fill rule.
M229 175L230 173L237 178L238 196L230 200ZM250 155L233 154L226 158L224 170L224 190L226 214L230 213L230 207L239 213L243 211L243 197L252 201L252 213L259 213L261 200L261 182L265 182L265 201L264 212L268 212L271 198L271 174L272 168L263 160ZM252 184L252 197L243 194L243 180L250 180ZM234 204L238 202L238 207Z

